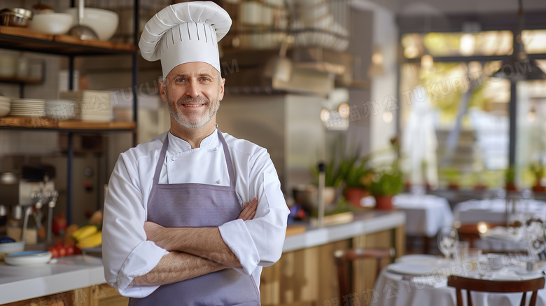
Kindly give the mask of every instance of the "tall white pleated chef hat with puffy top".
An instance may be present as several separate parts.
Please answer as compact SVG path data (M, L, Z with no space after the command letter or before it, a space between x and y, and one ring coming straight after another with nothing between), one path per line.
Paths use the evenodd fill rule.
M230 27L230 15L214 2L173 4L146 23L139 48L145 60L161 60L164 78L187 62L206 62L220 72L218 41Z

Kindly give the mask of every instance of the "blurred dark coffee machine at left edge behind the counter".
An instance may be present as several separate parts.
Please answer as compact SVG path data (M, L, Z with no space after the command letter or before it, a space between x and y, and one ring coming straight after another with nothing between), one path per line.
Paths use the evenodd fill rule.
M21 174L15 172L0 173L0 220L10 219L18 224L8 236L17 240L27 240L27 244L37 242L29 239L30 217L33 217L36 230L42 228L45 218L43 210L47 211L47 242L52 241L53 208L57 203L59 193L55 190L55 168L50 166L25 166Z

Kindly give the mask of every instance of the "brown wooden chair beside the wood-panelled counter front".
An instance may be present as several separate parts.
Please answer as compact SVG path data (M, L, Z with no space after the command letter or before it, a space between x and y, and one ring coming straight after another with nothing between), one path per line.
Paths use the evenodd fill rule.
M384 248L384 249L346 249L346 250L337 250L334 253L335 263L337 265L337 278L339 280L339 296L342 297L351 293L351 288L349 288L349 280L347 279L346 274L346 263L354 260L362 259L375 259L377 260L377 269L375 271L375 276L379 275L381 272L382 263L381 261L384 258L394 258L395 256L394 248Z

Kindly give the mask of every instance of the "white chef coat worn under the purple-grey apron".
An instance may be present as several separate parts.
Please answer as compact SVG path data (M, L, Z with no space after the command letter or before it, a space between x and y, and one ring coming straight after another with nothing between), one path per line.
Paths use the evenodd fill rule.
M121 295L144 298L158 286L128 286L134 277L151 271L168 252L146 241L144 222L153 173L165 137L169 148L159 183L205 183L230 186L228 166L217 132L191 148L183 139L165 132L152 141L121 153L109 181L104 202L102 232L106 281ZM223 133L233 161L235 190L241 202L258 197L252 220L237 219L219 226L225 244L235 253L241 273L260 285L262 267L281 257L288 207L273 162L265 148ZM199 204L199 203L195 203Z

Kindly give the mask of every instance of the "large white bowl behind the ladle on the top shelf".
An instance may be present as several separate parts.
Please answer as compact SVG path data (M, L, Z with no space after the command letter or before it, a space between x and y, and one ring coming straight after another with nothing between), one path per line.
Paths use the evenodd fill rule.
M65 11L72 15L72 25L78 25L78 8L69 8ZM83 25L93 29L99 40L107 41L112 38L118 29L118 13L102 8L84 8Z

